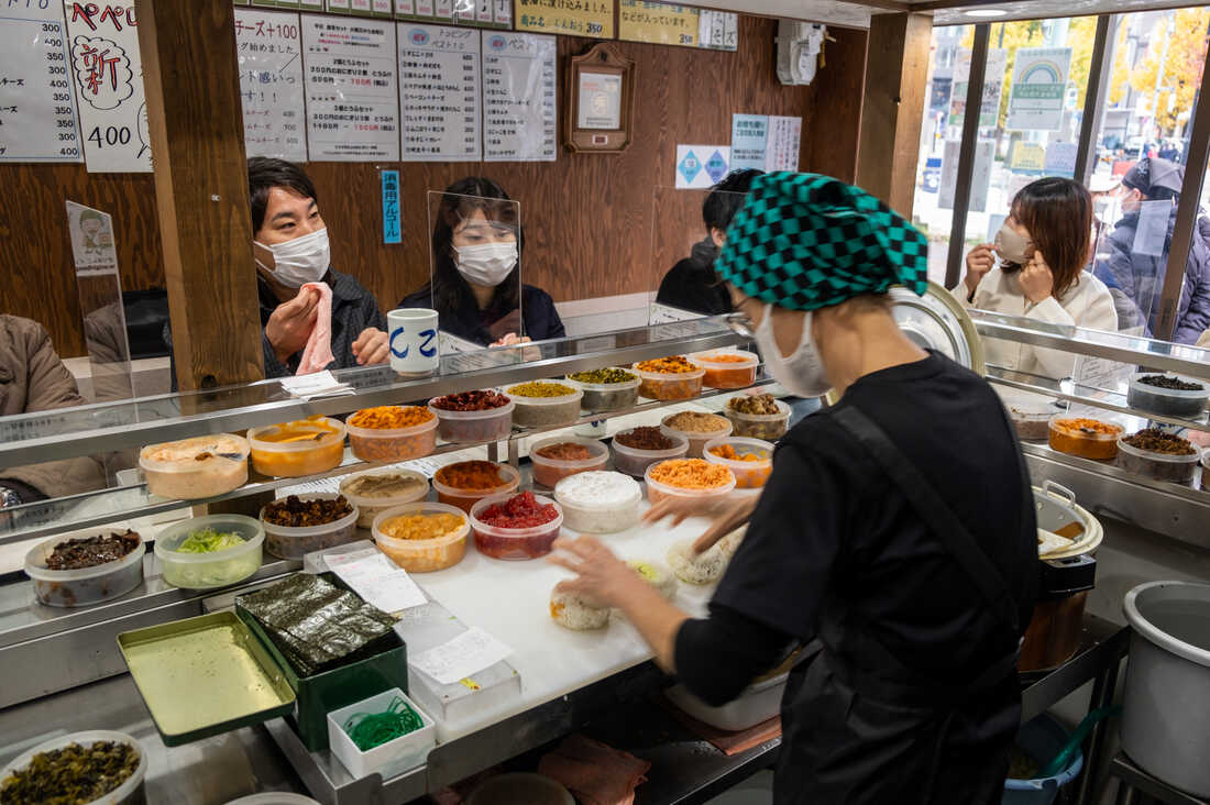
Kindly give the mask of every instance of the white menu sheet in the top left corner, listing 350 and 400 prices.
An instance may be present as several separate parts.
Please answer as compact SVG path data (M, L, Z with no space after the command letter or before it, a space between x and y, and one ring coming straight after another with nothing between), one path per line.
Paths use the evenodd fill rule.
M83 160L70 62L62 6L0 8L0 162Z

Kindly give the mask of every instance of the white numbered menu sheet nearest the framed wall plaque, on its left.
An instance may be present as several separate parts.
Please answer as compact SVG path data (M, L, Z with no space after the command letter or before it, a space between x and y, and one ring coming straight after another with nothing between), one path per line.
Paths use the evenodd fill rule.
M558 150L554 36L483 33L483 159L553 162Z

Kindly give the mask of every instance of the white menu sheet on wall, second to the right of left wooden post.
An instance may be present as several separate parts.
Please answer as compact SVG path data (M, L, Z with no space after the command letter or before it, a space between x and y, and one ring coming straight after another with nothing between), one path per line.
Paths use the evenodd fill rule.
M394 23L302 15L312 162L399 159Z

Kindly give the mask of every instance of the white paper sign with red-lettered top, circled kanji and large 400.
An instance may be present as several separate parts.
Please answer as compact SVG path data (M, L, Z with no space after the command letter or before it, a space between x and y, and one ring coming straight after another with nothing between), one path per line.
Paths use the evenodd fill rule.
M151 134L143 94L134 2L64 0L68 73L80 103L90 173L150 173Z

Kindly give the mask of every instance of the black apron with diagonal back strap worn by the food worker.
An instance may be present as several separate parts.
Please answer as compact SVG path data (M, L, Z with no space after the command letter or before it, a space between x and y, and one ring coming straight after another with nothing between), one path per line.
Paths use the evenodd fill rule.
M939 685L899 662L859 615L825 603L818 637L791 671L783 698L774 801L999 803L1021 714L1016 603L969 530L882 429L853 407L832 416L974 580L1001 621L1006 645L1015 648L962 686ZM1022 506L1032 507L1020 450L1018 464Z

